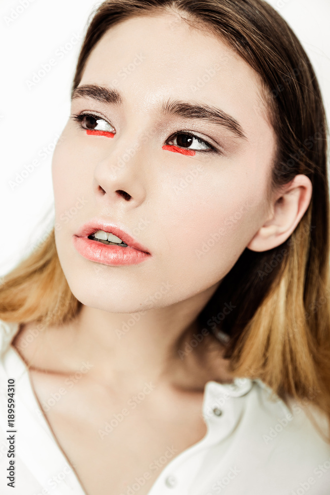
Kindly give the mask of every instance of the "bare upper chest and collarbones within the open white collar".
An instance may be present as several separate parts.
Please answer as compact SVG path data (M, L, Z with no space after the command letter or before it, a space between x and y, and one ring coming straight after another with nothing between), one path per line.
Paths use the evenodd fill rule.
M223 347L211 341L204 348L208 336L184 358L187 369L178 370L174 382L164 376L137 384L127 375L112 383L97 373L89 353L72 366L77 327L49 327L22 347L34 328L33 322L23 325L12 345L29 366L48 425L88 495L125 494L136 478L143 483L139 492L147 494L167 463L205 436L205 383L232 382Z

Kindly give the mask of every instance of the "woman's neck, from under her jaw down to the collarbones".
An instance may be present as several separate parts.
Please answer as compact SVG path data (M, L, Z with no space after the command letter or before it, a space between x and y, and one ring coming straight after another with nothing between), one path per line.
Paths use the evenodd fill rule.
M131 314L82 306L71 332L76 366L89 360L98 380L126 385L151 380L203 389L209 379L231 381L224 348L197 326L198 313L209 299L198 296Z

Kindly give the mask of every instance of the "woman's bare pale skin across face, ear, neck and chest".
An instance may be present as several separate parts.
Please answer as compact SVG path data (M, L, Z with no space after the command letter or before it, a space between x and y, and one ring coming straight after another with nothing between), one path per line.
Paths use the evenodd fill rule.
M127 77L118 76L139 53L143 62ZM194 89L214 63L220 70ZM275 136L257 74L223 42L188 28L175 15L129 19L110 29L92 52L80 86L92 84L115 87L124 104L80 96L72 113L96 112L115 136L87 136L69 119L52 164L57 252L82 310L73 322L40 332L28 346L24 339L34 323L24 326L13 345L30 367L41 404L82 363L91 363L56 404L46 406L47 421L88 495L125 494L148 472L139 490L146 495L161 472L152 463L168 447L175 450L170 461L204 437L205 384L232 381L223 349L210 335L181 359L178 351L197 332L197 315L245 247L263 251L289 237L308 207L312 185L298 175L268 200ZM240 123L245 139L204 120L160 115L164 99L222 108ZM178 130L195 133L222 153L164 150ZM111 166L135 144L140 148L113 173ZM194 180L180 186L192 171L198 172ZM81 197L84 207L65 220ZM81 256L72 236L94 216L119 223L152 258L113 267ZM141 219L145 228L138 227ZM196 250L220 227L218 241L198 257ZM163 283L169 290L150 298ZM119 337L123 322L139 312ZM154 387L150 394L128 406L146 383ZM127 417L101 438L99 430L125 407Z

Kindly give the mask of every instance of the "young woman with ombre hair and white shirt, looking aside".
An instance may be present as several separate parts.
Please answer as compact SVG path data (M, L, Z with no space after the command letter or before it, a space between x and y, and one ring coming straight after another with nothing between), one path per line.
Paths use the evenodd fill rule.
M328 494L327 130L291 29L105 1L71 112L0 292L3 493Z

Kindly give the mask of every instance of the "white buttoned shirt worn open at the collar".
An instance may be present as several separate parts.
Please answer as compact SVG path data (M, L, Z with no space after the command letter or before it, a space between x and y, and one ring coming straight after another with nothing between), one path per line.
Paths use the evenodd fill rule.
M0 320L0 494L86 495L48 426L24 361L10 345L17 330L18 324ZM6 432L9 378L15 379L15 434ZM292 401L290 412L271 392L259 379L207 382L205 437L179 454L169 445L118 495L139 494L143 476L155 472L148 495L330 495L330 444L308 420L307 406ZM318 417L327 433L325 416ZM12 435L14 489L6 479Z

